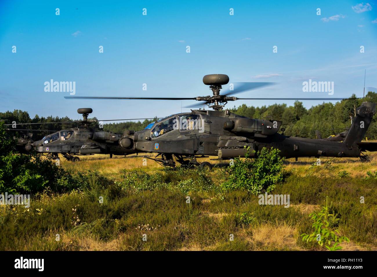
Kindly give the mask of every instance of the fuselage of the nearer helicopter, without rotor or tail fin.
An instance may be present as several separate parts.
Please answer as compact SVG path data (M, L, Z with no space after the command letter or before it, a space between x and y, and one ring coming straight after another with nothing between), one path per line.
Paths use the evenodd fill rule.
M189 126L185 120L196 120ZM159 120L148 129L123 135L121 142L136 152L177 155L243 156L244 147L256 152L277 148L282 157L359 157L354 145L277 133L281 122L249 119L225 111L193 110ZM164 130L161 132L161 130ZM124 139L124 140L122 140Z

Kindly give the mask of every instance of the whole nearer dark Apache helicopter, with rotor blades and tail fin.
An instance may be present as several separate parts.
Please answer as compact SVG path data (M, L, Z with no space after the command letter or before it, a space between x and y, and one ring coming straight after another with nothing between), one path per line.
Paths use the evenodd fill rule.
M150 99L150 100L199 100L213 110L191 110L161 119L143 131L125 131L120 137L122 148L135 153L156 153L153 160L162 166L175 167L180 164L195 164L211 169L208 162L199 163L196 158L217 156L213 160L226 160L244 157L245 146L256 154L263 147L277 148L286 158L299 157L352 157L367 160L362 152L377 151L377 143L361 142L372 116L375 103L363 102L356 110L356 117L343 142L290 137L279 134L282 124L277 120L251 119L224 110L228 101L239 99L253 100L343 100L344 98L238 98L230 94L270 85L266 82L246 82L233 91L220 94L222 85L229 77L222 74L206 75L205 85L209 85L212 96L204 97L89 97L66 96L67 99ZM189 107L198 107L198 104ZM188 107L188 108L189 108ZM254 151L253 151L254 150ZM149 158L149 157L148 157Z

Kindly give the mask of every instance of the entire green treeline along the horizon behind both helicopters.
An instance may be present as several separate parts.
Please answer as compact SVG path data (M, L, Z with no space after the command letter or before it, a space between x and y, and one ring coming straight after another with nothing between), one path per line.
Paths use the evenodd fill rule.
M377 93L369 91L364 99L356 99L355 95L351 98L342 100L335 104L322 103L306 109L302 102L296 101L293 106L287 104L273 104L269 106L253 107L245 104L231 109L231 112L241 116L259 119L273 119L282 121L282 128L285 128L286 135L296 137L316 138L315 131L319 130L322 137L328 137L332 134L337 134L345 131L351 126L351 117L356 115L356 108L361 105L363 101L377 103ZM97 120L96 117L90 120ZM144 120L143 122L118 122L107 123L103 125L104 131L112 131L123 133L124 130L140 131L144 129L149 123L155 122L156 119ZM69 117L39 117L36 115L31 118L26 111L14 110L0 113L0 121L5 124L16 123L42 123L42 122L69 122L73 121ZM32 129L33 139L40 139L47 135L49 131L60 131L64 129L77 128L78 123L46 123L41 125L17 125L17 129ZM12 126L8 126L12 129ZM100 129L98 122L90 123L90 128ZM25 131L28 132L28 131ZM24 133L25 133L24 132ZM377 140L377 116L373 117L371 126L366 132L366 137Z

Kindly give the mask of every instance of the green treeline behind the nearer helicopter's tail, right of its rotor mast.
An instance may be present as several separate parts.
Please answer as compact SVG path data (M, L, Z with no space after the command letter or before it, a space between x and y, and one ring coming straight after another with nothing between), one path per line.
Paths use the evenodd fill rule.
M351 117L355 118L356 108L362 102L377 103L377 93L369 91L364 99L356 99L353 94L335 104L322 103L306 109L302 102L296 101L293 106L287 104L273 104L269 106L253 107L245 104L231 109L231 112L241 116L258 119L273 119L282 121L285 135L295 137L316 138L315 131L319 130L322 137L328 137L345 131L351 126ZM374 115L365 137L377 140L377 116Z

